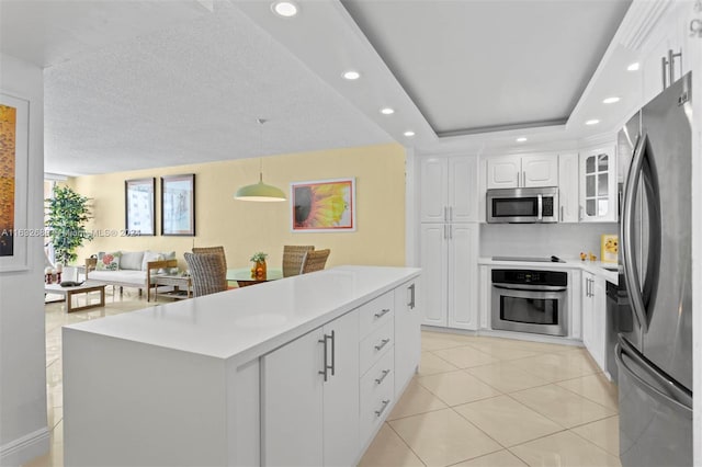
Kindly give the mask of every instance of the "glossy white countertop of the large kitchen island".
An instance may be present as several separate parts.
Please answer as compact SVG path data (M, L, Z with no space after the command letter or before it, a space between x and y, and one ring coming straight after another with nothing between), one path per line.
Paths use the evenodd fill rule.
M64 327L241 363L418 276L416 267L339 266Z

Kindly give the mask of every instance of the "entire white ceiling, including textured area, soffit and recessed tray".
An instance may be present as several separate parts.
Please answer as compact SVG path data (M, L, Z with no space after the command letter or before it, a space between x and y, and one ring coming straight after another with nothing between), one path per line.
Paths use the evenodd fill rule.
M47 172L431 150L476 130L502 129L483 134L501 144L516 127L591 135L581 123L610 92L624 104L602 119L618 123L635 87L604 61L630 59L610 44L629 3L303 0L282 19L265 0L0 0L0 52L45 67ZM361 79L342 80L348 68Z

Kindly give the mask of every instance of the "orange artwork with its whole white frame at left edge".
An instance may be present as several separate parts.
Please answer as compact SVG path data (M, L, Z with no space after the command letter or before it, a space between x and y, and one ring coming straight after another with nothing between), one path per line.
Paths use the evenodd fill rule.
M0 271L29 269L30 101L0 93Z

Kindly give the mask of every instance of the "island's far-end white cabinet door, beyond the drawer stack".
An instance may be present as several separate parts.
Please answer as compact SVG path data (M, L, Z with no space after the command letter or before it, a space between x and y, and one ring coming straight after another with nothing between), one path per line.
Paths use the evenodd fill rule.
M419 278L395 289L395 397L415 376L421 353Z

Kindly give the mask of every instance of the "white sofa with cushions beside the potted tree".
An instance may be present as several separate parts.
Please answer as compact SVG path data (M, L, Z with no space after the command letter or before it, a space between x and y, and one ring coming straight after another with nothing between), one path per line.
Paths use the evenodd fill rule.
M152 277L158 274L176 273L176 252L114 251L100 252L86 260L86 281L120 287L146 289L146 300L150 301Z

